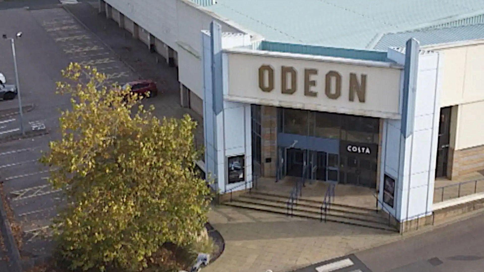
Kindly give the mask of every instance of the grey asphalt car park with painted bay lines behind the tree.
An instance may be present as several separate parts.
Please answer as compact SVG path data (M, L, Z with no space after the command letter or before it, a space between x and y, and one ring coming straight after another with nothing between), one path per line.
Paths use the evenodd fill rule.
M82 8L94 11L91 6L79 8L77 12L80 13L83 12ZM90 20L89 17L84 19ZM91 26L95 27L95 23L91 22L94 24ZM23 123L27 132L27 137L22 138L18 100L0 101L0 181L3 182L15 219L22 227L22 256L44 256L49 254L52 246L48 226L57 214L57 208L61 206L62 194L49 185L48 168L39 164L38 159L41 152L48 149L49 141L60 136L59 109L70 106L69 97L55 94L55 82L62 79L60 70L75 61L96 66L106 74L108 83L129 82L138 79L140 75L158 81L163 77L163 86L159 87L162 93L145 103L157 106L156 114L160 117L180 117L185 111L178 106L178 81L174 68L167 68L164 63L155 63L154 58L150 59L152 62L149 65L144 65L143 62L147 60L143 58L146 56L136 56L134 60L144 68L142 71L134 70L120 58L119 50L123 45L113 50L106 41L86 29L62 8L0 9L0 25L5 26L9 35L23 31L15 45L24 105ZM102 25L99 27L103 28ZM104 30L107 31L106 25ZM114 35L124 35L120 32L124 30L117 31ZM125 47L129 46L135 55L138 47L139 50L148 50L139 41L125 42L128 44ZM0 52L0 71L7 77L7 83L13 84L15 75L10 43L0 43ZM150 65L155 69L150 69ZM153 75L158 72L157 67L161 67L160 73ZM166 74L169 77L164 77Z

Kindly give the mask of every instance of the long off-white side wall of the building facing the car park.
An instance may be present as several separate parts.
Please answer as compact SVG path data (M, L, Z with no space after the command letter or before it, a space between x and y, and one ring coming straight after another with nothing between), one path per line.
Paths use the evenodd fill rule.
M151 33L175 50L178 55L179 81L199 98L203 98L200 31L209 29L210 23L215 20L223 31L257 36L189 0L106 0L106 3L116 9L117 16L118 12L126 16L127 29L133 29L133 22L136 22L140 27L139 38L145 43L147 35Z

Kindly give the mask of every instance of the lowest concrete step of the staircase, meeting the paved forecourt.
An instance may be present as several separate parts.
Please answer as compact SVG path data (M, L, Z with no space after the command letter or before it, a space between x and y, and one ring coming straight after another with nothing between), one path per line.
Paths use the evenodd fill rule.
M263 206L263 205L259 205L259 204L246 203L246 202L242 202L242 201L238 201L238 200L232 200L231 202L224 202L223 205L227 205L227 206L231 206L231 207L237 207L237 208L243 208L243 209L250 209L250 210L259 211L259 212L272 212L272 213L287 215L286 208ZM320 215L317 215L317 214L312 213L312 212L303 212L303 211L294 210L292 216L321 220ZM323 218L323 221L324 221L324 218ZM357 219L339 217L339 216L334 216L334 215L328 215L326 217L326 221L336 222L336 223L344 223L344 224L360 226L360 227L370 227L370 228L374 228L374 229L381 229L381 230L393 231L393 232L397 231L396 228L390 227L388 225L384 225L384 224L381 224L381 223L365 222L365 221L360 221L360 220L357 220Z

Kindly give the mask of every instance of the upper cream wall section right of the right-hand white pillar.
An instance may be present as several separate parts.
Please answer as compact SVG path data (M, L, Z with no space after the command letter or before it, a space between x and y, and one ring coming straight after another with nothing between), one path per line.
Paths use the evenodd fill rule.
M444 58L441 107L484 100L484 44L431 49Z

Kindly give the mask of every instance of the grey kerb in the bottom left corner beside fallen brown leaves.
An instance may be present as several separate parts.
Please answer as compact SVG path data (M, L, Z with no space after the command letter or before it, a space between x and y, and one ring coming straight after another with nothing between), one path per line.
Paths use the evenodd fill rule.
M7 254L9 257L9 264L12 272L22 272L22 261L20 260L20 252L18 251L17 244L15 243L14 235L12 234L12 228L3 207L2 196L0 194L0 231L3 236L3 243L7 248Z

